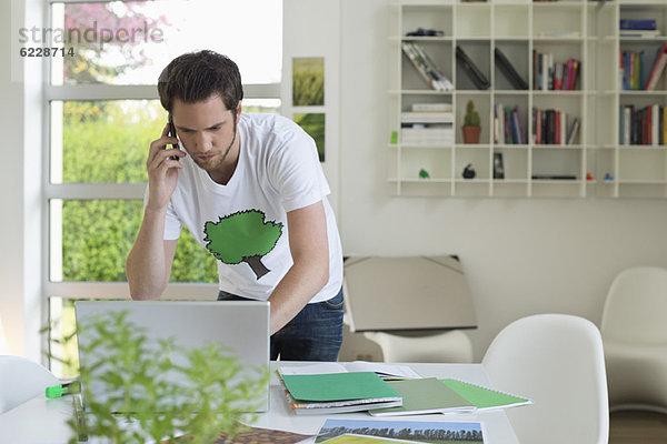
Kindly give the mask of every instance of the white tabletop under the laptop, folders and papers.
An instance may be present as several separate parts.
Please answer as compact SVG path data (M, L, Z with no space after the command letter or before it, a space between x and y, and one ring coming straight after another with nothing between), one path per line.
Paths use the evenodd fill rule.
M307 363L271 363L271 369L280 365L303 365ZM491 386L481 364L406 364L421 376L452 377ZM520 407L530 408L530 406ZM0 415L0 442L22 443L67 443L70 430L66 422L72 414L71 396L47 400L39 395L16 408ZM278 428L315 435L326 417L366 418L365 412L336 415L295 415L285 400L285 393L275 372L271 372L269 412L259 416L253 424L258 427ZM489 444L511 444L518 440L504 410L446 415L395 416L394 420L410 421L480 421L484 423ZM390 420L390 418L388 418Z

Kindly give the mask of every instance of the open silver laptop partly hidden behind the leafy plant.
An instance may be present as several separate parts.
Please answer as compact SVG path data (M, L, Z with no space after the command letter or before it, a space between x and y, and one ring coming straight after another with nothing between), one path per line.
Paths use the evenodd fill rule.
M227 355L238 359L242 370L229 384L245 377L258 377L258 371L267 370L269 365L269 302L267 301L77 301L74 302L77 325L86 325L99 315L110 312L127 312L126 320L143 330L148 346L158 346L159 340L172 340L176 345L188 350L202 347L215 341L229 349ZM90 344L97 337L93 329L78 332L79 344ZM103 360L108 353L96 347L87 355L79 347L79 362L92 369L92 365ZM171 357L171 356L170 356ZM181 360L182 355L175 354L173 359ZM107 364L108 365L108 364ZM96 400L108 400L103 393L106 384L96 382L92 372L90 390ZM181 384L180 374L167 374L170 382ZM185 387L187 392L187 387ZM86 404L86 400L83 400ZM248 412L266 412L269 407L269 384L262 391L260 400L252 400ZM115 413L122 412L115 408Z

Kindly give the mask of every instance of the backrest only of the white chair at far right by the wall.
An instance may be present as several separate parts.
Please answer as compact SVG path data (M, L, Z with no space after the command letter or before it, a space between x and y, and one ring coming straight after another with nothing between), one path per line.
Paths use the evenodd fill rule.
M605 340L667 342L667 269L636 266L620 272L607 293L600 331Z

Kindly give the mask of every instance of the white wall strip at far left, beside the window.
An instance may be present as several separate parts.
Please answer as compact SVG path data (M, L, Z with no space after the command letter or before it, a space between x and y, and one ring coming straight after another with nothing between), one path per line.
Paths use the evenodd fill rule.
M18 29L41 26L40 0L0 2L0 324L9 353L40 359L41 69L26 68ZM26 85L29 84L30 88Z

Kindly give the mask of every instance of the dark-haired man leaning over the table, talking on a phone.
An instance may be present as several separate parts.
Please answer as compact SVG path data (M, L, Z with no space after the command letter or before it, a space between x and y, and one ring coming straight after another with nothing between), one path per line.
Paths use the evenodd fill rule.
M336 361L342 254L310 137L242 114L239 70L212 51L176 58L158 92L169 124L150 144L148 192L126 270L132 299L165 291L182 224L218 260L219 300L271 302L271 359ZM182 149L169 149L180 140Z

